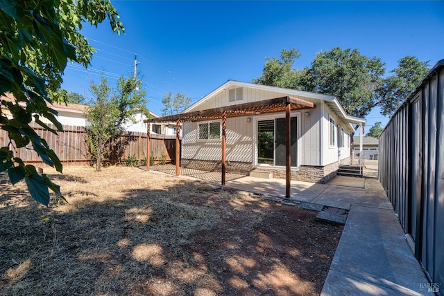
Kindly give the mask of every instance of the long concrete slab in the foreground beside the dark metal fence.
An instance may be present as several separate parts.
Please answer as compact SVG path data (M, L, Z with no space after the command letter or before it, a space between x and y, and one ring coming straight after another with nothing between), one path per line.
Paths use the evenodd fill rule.
M395 212L352 205L321 295L347 295L344 288L350 295L414 295L426 283Z

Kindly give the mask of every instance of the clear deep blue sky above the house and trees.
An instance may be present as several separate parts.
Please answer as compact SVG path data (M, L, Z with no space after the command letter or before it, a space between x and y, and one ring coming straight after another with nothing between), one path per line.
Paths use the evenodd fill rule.
M160 115L165 93L193 102L227 80L250 82L266 57L298 48L296 68L321 50L357 48L380 57L386 74L415 55L433 66L444 58L444 1L112 1L126 28L85 26L97 52L87 69L69 64L62 88L90 95L103 72L111 84L133 75L135 54L146 84L148 109ZM366 131L388 118L374 110Z

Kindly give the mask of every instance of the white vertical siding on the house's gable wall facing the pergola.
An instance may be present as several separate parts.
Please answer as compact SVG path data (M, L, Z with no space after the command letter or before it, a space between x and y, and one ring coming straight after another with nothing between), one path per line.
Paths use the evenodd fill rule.
M234 87L235 88L235 87ZM200 104L197 110L211 109L231 104L243 104L259 100L269 100L286 96L285 93L244 88L244 100L229 102L228 89L216 95L212 100ZM299 97L301 100L314 102L314 109L302 109L300 112L300 165L321 164L321 116L323 104L321 100ZM309 116L305 116L305 111ZM270 114L273 117L275 114ZM282 113L281 113L282 115ZM253 117L253 116L250 116ZM227 160L254 163L255 143L253 142L253 124L247 117L228 118L227 120ZM184 122L182 139L182 158L199 160L221 160L221 140L197 140L198 122ZM328 135L328 134L327 134ZM337 149L336 149L337 161Z

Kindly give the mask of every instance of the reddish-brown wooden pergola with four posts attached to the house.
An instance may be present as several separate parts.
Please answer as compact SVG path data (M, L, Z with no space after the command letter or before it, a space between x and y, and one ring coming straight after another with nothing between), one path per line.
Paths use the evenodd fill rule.
M290 96L275 98L271 100L263 100L257 102L250 102L245 104L234 104L231 106L205 109L194 112L180 113L177 115L163 116L160 118L151 118L144 120L148 123L147 128L147 144L146 144L146 159L150 159L150 122L176 122L176 176L180 174L180 122L197 122L203 120L222 120L222 156L221 156L221 184L225 185L226 172L226 129L227 118L260 115L266 113L285 112L285 154L286 154L286 190L285 196L290 196L290 182L291 182L291 158L290 158L290 113L293 110L314 108L314 103L300 100ZM146 162L146 169L149 171L150 163Z

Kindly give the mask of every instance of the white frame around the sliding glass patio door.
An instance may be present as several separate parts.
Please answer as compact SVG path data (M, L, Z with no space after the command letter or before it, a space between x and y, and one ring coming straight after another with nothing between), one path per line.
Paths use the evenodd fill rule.
M301 112L300 111L292 111L290 113L290 117L296 117L296 122L297 122L297 135L298 135L298 142L296 143L296 145L298 146L298 159L296 160L296 167L291 167L291 169L293 171L298 171L300 168L300 161L301 161L301 155L302 155L302 140L301 140ZM253 125L253 165L255 167L266 167L268 169L285 169L284 166L276 166L276 165L267 165L265 163L257 163L257 122L259 120L275 120L276 118L285 118L285 114L277 114L275 116L271 116L269 114L267 115L259 115L259 116L255 116L253 118L253 122L255 123Z

